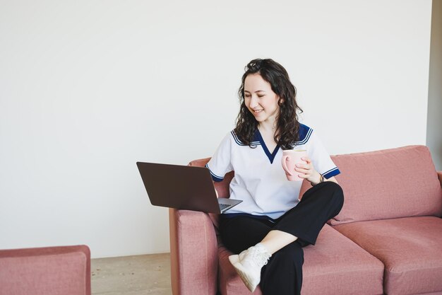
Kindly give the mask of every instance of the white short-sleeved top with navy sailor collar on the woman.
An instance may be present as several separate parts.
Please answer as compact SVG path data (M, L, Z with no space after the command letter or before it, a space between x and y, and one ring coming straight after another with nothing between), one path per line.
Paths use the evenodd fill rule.
M294 149L305 149L316 171L325 178L340 173L310 127L301 124L299 141L291 145ZM277 219L297 205L302 182L287 180L281 166L282 149L278 145L274 151L269 151L258 129L252 146L254 148L241 143L234 131L229 132L206 167L217 182L222 181L226 173L234 171L229 187L230 198L243 202L226 214L245 213Z

